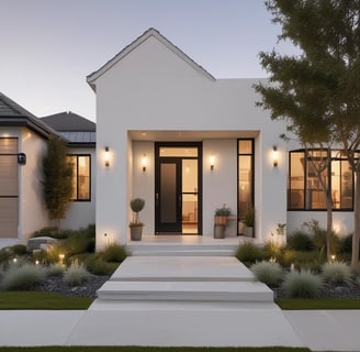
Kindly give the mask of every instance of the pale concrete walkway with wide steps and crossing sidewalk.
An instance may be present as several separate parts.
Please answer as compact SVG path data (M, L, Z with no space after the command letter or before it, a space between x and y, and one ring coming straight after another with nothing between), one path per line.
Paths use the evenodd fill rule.
M360 310L282 311L234 257L128 257L99 297L89 310L1 310L0 345L360 351Z

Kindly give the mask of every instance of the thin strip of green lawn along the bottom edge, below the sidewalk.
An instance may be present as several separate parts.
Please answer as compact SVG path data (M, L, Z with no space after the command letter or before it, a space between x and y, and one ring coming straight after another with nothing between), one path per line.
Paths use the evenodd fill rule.
M142 348L142 346L44 346L0 348L0 352L310 352L292 348Z

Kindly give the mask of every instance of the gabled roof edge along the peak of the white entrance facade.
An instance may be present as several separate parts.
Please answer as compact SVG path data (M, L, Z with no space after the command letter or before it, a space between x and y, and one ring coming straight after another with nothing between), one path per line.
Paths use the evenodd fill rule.
M147 41L150 36L156 37L159 42L161 42L167 48L169 48L171 52L173 52L176 55L178 55L180 58L182 58L185 63L188 63L190 66L192 66L195 70L203 74L206 78L211 80L215 80L215 78L205 70L202 66L198 65L191 57L189 57L187 54L184 54L179 47L173 45L169 40L167 40L164 35L160 34L159 31L155 29L149 29L146 32L144 32L143 35L137 37L134 42L132 42L130 45L127 45L124 50L122 50L119 54L116 54L113 58L111 58L105 65L100 67L98 70L93 72L87 77L87 81L90 85L90 87L95 91L95 80L102 76L108 69L110 69L112 66L117 64L123 57L125 57L127 54L130 54L133 50L135 50L137 46L139 46L142 43Z

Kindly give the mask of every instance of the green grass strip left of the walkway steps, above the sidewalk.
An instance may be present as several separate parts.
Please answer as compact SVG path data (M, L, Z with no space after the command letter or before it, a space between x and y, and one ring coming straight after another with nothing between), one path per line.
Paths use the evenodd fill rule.
M2 292L0 309L88 309L92 299L43 292Z

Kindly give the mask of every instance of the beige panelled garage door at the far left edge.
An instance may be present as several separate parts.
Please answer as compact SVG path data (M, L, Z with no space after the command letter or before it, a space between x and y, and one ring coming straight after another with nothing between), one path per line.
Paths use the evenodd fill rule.
M18 237L18 139L0 138L0 238Z

